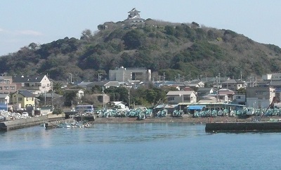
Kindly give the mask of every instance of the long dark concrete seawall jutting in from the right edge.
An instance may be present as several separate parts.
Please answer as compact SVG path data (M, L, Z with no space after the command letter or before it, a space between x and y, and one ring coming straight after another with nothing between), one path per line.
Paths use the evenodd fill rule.
M207 123L205 131L281 131L281 122Z

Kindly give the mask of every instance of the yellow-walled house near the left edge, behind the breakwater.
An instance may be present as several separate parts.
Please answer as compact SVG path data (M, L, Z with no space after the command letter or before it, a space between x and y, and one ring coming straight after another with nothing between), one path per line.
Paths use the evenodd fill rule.
M27 105L35 105L35 98L30 91L18 90L15 93L12 93L11 103L13 104L15 110L25 110Z

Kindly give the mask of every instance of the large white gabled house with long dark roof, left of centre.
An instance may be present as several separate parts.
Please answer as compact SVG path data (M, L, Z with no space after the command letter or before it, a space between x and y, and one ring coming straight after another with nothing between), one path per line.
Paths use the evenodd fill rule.
M33 94L47 93L51 90L51 81L46 75L33 77L13 77L18 89L25 89Z

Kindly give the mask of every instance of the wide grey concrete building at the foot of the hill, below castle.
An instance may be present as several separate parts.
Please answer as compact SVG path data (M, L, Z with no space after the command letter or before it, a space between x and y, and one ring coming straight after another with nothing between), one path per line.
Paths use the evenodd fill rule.
M109 71L109 79L110 81L131 81L131 80L139 80L139 81L150 81L151 80L151 70L147 70L146 68L124 68L119 67L115 70Z

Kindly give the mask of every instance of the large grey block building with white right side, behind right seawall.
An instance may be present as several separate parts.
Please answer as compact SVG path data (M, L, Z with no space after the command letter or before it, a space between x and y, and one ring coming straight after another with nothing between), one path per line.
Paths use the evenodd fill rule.
M268 108L275 97L275 89L272 87L247 87L247 107Z

